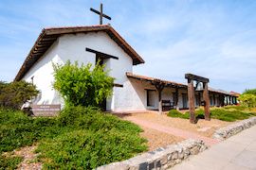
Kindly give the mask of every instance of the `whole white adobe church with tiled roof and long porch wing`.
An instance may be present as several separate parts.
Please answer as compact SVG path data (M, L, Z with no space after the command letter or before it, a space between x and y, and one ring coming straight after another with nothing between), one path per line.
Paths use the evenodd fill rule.
M64 100L52 87L52 63L64 64L68 59L84 64L95 64L101 59L110 70L115 84L112 96L107 98L106 110L188 109L187 85L135 75L133 67L145 61L109 25L43 29L15 80L32 82L40 90L33 104L63 106ZM236 104L236 97L234 93L210 89L211 106ZM196 91L195 98L196 106L200 106L202 91Z

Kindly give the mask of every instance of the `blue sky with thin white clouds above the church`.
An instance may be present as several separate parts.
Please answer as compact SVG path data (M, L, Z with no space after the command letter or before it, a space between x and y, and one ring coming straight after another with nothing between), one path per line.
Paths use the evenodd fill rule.
M11 81L42 28L97 25L100 8L146 63L134 72L186 83L193 73L210 87L256 88L254 0L1 0L0 80Z

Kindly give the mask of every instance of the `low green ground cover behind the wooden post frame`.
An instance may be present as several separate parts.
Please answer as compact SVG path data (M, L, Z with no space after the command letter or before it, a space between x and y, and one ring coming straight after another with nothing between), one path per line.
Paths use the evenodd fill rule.
M177 110L170 110L167 114L170 117L179 117L183 119L189 119L190 113L186 111L181 113ZM227 122L234 122L237 120L244 120L251 116L256 116L256 112L248 110L242 106L227 106L224 108L210 108L210 117L212 119L219 119ZM204 110L197 109L195 110L195 117L198 119L204 118Z

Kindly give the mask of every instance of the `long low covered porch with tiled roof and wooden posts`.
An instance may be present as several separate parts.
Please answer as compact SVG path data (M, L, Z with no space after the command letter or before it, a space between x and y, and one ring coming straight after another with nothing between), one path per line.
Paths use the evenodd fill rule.
M149 76L139 76L126 73L132 83L139 84L141 93L145 95L145 110L158 110L159 112L176 110L188 110L188 86L174 81L163 80ZM136 87L135 87L136 88ZM209 88L210 106L223 107L226 105L236 105L237 96L231 93ZM195 91L195 107L203 106L203 92Z

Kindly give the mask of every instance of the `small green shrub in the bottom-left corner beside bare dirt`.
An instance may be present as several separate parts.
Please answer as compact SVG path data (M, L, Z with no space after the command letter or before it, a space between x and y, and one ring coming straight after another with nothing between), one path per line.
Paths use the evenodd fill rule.
M21 157L0 155L0 170L16 169L17 165L22 161Z

